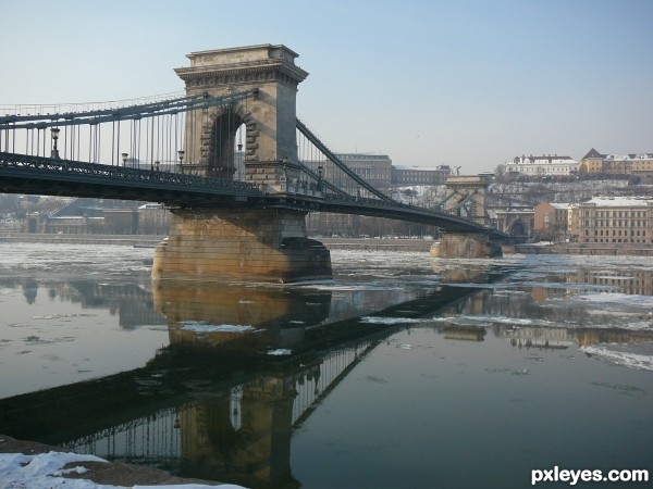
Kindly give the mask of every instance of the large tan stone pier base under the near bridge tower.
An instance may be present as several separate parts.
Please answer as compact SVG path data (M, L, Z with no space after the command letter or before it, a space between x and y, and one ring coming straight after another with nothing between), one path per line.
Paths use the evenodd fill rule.
M331 255L285 210L180 210L157 246L157 279L289 283L331 278Z

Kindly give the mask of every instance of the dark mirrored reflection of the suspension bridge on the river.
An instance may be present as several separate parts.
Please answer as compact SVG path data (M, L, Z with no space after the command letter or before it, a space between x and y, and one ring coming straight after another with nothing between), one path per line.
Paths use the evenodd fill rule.
M276 288L263 289L280 299ZM206 293L213 290L210 286ZM307 319L301 325L287 324L282 306L269 314L266 290L243 296L242 300L251 301L250 308L261 309L261 326L274 327L281 316L285 317L285 329L304 329L305 346L293 346L304 354L252 356L213 341L209 335L204 344L198 338L192 344L175 342L143 368L0 400L2 432L111 460L164 465L194 477L229 478L247 487L297 487L291 473L293 430L306 422L379 341L395 330L392 326L360 322L359 315L373 312L377 316L396 317L401 311L404 317L431 318L435 311L473 289L444 288L416 294L417 299L406 302L397 301L390 308L379 301L371 309L335 323L318 317L311 322L316 313L307 312L310 317L301 316ZM168 305L171 323L230 318L229 311L221 312L223 308L211 301L197 300L194 306L185 308L182 302L188 294L184 289L164 292L167 296L159 300L180 302ZM241 289L241 293L246 292ZM201 299L199 293L192 296ZM286 303L291 309L297 300L288 298ZM316 309L318 313L325 312L321 306ZM342 311L335 312L338 318L343 317ZM174 335L171 330L171 342ZM283 335L279 337L285 341ZM345 340L350 342L343 344ZM239 343L247 347L247 340ZM312 350L329 344L340 347ZM280 486L280 481L285 486Z

